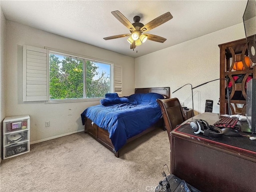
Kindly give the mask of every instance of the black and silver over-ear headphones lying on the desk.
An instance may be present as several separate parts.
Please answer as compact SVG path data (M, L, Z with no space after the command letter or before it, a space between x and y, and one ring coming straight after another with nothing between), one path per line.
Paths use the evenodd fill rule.
M222 137L223 131L213 125L209 125L205 120L199 119L190 122L190 126L195 134L203 133L207 137L219 139Z

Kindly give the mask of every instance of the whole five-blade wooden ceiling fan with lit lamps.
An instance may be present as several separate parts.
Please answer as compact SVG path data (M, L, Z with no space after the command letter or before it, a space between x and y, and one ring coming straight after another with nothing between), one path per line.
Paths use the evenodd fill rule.
M141 45L147 39L155 42L160 42L160 43L165 42L166 38L153 35L153 34L144 33L144 32L154 29L173 18L172 14L170 14L170 12L167 12L153 19L152 21L148 22L146 25L144 25L140 23L140 16L135 16L133 18L134 23L132 24L120 11L112 11L111 13L114 15L115 18L117 18L118 21L120 21L124 26L126 26L131 33L114 35L110 37L105 37L103 39L110 40L110 39L116 39L116 38L122 38L122 37L129 37L127 41L131 44L130 45L131 49L134 49L136 46Z

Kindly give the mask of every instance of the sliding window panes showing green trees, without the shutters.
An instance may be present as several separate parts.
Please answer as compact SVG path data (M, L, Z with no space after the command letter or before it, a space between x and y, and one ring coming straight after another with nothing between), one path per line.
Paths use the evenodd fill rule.
M49 53L50 100L101 98L111 92L111 64Z

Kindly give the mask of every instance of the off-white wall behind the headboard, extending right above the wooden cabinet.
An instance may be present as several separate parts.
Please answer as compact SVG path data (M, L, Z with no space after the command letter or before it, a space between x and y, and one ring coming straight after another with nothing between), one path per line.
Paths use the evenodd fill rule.
M165 48L135 59L135 87L170 86L171 92L184 84L193 87L220 78L219 44L245 38L243 23ZM219 113L219 80L193 90L195 114L205 110L205 100L214 101L212 112ZM192 108L191 86L174 94Z

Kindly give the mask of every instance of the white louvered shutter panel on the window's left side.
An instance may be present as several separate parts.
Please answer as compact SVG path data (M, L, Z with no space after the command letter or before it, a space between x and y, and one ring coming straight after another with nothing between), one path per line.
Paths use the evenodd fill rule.
M23 46L23 101L47 100L47 50Z

